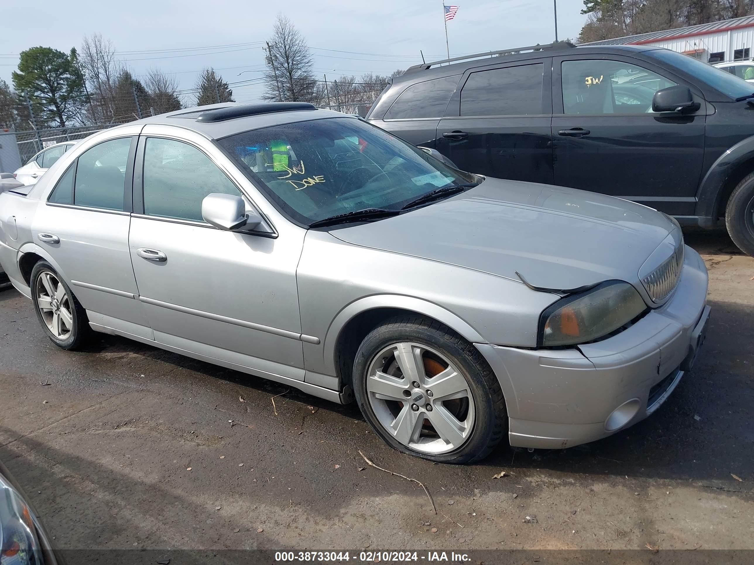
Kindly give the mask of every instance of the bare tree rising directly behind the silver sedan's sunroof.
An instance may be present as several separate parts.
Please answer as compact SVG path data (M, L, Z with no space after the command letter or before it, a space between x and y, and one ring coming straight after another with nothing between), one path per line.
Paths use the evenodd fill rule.
M283 14L277 14L273 35L268 41L265 92L270 101L311 102L317 81L312 73L314 60L301 32Z

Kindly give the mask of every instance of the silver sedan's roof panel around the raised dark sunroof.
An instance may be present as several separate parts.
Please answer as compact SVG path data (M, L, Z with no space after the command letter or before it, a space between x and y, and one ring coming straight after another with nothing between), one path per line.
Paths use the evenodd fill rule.
M286 102L266 102L259 104L221 102L220 104L182 108L181 110L167 112L167 114L149 116L149 118L128 122L128 124L124 125L164 124L192 130L210 139L222 139L235 133L256 130L260 127L293 124L299 121L320 120L323 118L358 119L338 111L321 110L311 105L310 108L290 106L293 109L289 110L286 109L284 104ZM290 104L293 104L293 102ZM302 105L299 104L299 106ZM200 115L211 115L215 111L230 108L237 108L240 111L235 113L242 115L235 118L224 118L219 121L197 121ZM245 108L248 115L243 115ZM116 128L112 129L115 130Z

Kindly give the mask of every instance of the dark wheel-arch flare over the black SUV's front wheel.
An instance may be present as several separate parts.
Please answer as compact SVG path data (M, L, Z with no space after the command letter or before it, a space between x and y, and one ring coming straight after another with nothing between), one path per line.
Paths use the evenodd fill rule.
M697 190L697 216L703 228L712 228L718 218L722 187L741 163L754 160L754 136L742 139L717 158Z

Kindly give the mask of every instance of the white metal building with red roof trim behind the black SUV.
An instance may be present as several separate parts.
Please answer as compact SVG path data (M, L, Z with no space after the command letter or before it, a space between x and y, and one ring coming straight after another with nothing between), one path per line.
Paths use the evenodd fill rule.
M704 63L751 59L754 56L754 16L589 43L589 45L625 44L665 47L694 56Z

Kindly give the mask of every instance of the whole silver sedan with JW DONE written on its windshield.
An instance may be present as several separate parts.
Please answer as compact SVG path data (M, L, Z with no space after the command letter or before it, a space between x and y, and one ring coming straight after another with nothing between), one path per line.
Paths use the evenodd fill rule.
M2 266L57 346L102 331L355 398L438 462L642 420L709 316L667 215L463 173L302 103L97 133L0 210Z

